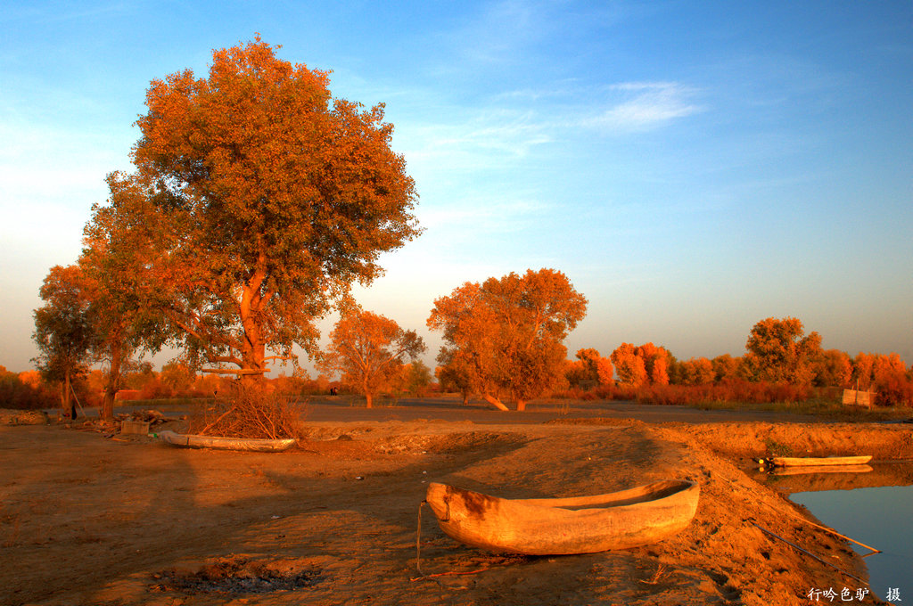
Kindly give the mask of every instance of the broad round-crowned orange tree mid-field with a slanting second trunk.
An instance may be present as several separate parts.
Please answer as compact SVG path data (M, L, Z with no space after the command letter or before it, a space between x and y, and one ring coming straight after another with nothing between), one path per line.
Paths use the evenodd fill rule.
M554 387L563 374L567 349L562 341L586 315L586 298L554 269L467 282L438 298L428 328L443 330L437 356L453 366L477 392L500 410L506 394L526 402Z

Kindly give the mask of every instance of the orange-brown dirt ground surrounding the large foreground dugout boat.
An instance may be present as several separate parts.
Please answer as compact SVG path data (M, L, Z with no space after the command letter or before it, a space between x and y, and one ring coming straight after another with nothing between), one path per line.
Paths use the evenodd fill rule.
M750 458L913 458L902 424L308 425L310 439L281 454L0 426L0 604L807 604L813 588L864 587L849 576L865 576L862 560L747 473ZM697 481L701 494L691 525L655 545L489 554L447 538L425 507L416 560L430 481L534 497L663 478Z

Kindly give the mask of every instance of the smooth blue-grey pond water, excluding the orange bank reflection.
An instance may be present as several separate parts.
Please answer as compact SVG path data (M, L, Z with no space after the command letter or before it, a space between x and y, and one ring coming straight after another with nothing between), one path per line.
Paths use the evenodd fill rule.
M881 549L865 559L871 590L882 600L894 598L899 606L913 604L913 486L798 492L790 498L837 532ZM850 545L862 555L869 553Z

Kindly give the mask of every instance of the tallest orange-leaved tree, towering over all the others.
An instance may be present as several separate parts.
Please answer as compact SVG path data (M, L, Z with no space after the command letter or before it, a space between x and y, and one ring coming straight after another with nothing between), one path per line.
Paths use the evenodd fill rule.
M274 51L257 37L215 51L207 78L153 80L133 148L150 305L192 358L248 377L315 351L332 299L418 233L383 105L332 99L327 72Z

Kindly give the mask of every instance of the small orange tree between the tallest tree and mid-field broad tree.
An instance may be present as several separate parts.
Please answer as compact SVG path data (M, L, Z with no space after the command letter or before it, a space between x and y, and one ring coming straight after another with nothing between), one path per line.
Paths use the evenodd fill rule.
M401 329L394 320L362 308L347 308L318 366L340 371L343 381L362 392L371 408L374 395L399 376L404 360L415 360L423 351L425 342L415 330Z

